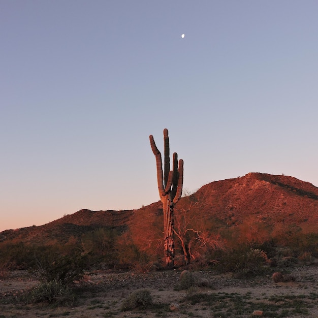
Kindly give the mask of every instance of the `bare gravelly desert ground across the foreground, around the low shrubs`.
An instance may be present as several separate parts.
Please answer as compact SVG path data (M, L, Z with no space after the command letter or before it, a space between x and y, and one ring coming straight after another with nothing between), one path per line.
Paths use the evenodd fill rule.
M13 317L318 317L318 266L288 269L294 280L275 283L272 272L236 278L211 270L192 272L198 285L175 290L182 270L150 273L96 270L76 284L72 306L28 304L21 295L39 284L35 274L13 271L0 280L0 318ZM149 290L153 305L122 311L131 293ZM171 310L172 309L172 310ZM253 314L254 313L254 314Z

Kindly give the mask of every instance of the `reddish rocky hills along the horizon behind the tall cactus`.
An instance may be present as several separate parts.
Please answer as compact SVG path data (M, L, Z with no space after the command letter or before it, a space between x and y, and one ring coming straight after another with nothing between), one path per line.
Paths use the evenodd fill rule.
M176 210L176 213L191 211L205 220L212 220L218 231L252 220L268 227L295 225L304 232L318 232L318 188L284 175L248 173L243 177L214 181L181 198ZM70 236L80 238L83 233L101 227L122 231L138 215L153 214L162 214L160 201L138 210L80 210L43 226L3 231L0 239L33 243L57 240L63 243Z

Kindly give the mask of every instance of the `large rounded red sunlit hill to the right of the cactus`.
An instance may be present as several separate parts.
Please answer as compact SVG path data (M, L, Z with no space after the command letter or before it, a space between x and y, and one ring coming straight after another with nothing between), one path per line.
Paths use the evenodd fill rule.
M253 215L269 225L283 222L308 228L318 221L318 188L294 177L248 173L206 184L194 196L204 213L233 225Z

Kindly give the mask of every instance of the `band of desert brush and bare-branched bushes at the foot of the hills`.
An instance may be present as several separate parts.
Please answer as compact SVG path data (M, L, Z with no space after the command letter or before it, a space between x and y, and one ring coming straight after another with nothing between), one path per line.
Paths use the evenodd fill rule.
M288 267L318 258L318 232L297 224L265 224L247 217L236 226L203 213L196 194L174 209L175 268L259 274L263 265ZM87 269L148 272L165 268L163 209L154 205L134 212L126 227L95 227L83 234L32 243L0 242L0 276L23 269L46 280L68 283Z

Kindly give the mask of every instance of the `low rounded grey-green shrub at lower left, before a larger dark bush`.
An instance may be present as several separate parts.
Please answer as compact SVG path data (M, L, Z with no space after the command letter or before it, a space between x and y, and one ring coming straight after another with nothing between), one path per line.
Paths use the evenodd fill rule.
M48 302L56 305L72 305L75 300L72 290L60 280L42 282L31 290L25 298L29 303Z

